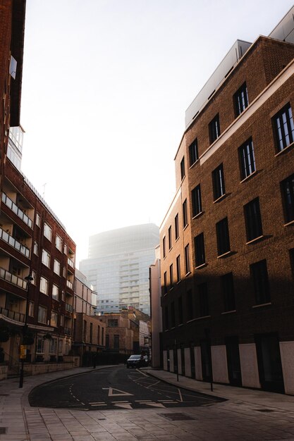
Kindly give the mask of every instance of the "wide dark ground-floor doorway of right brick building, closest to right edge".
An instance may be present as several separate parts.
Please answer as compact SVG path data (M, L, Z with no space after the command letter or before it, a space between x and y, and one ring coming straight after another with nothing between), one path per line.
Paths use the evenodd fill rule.
M280 345L277 334L255 335L259 381L263 390L284 393Z

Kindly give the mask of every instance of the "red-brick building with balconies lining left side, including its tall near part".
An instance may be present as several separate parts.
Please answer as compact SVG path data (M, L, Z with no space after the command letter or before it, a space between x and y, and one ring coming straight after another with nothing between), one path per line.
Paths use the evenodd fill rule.
M20 170L24 27L25 1L1 1L0 346L9 366L21 342L28 361L61 360L73 325L75 243Z

